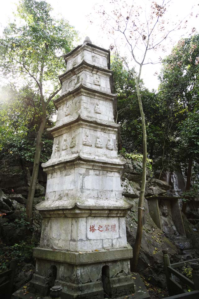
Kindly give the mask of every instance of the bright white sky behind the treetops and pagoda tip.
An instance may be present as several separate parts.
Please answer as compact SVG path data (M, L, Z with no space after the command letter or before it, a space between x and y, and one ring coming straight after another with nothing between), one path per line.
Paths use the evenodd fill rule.
M140 1L146 2L147 4L152 2L151 0L139 0L139 2ZM2 28L8 23L9 18L13 18L12 12L15 11L15 3L17 2L18 0L2 1L0 10L0 33L2 32ZM79 44L83 42L85 36L89 36L93 44L109 49L109 45L113 43L113 39L108 33L106 34L106 32L102 31L99 26L99 18L95 16L94 13L95 3L101 4L102 0L47 0L47 2L53 7L55 15L62 14L62 16L67 19L71 25L75 26L77 31L79 31ZM107 9L110 9L110 2L112 1L104 0L104 6L107 7ZM127 0L127 2L131 3L132 1ZM194 5L193 17L189 18L188 22L190 28L196 27L197 32L199 32L199 22L198 19L195 18L195 15L199 12L199 0L172 0L170 2L169 21L186 17L187 14L191 12ZM92 25L87 17L89 14L94 17ZM183 35L184 37L188 37L183 30L172 33L171 37L173 44L168 42L167 52L156 52L155 55L157 57L164 57L164 55L169 54L172 46L176 44ZM157 89L158 87L158 79L157 76L154 75L155 72L160 72L160 64L149 64L145 66L142 71L142 78L144 79L146 87L150 90L152 88Z

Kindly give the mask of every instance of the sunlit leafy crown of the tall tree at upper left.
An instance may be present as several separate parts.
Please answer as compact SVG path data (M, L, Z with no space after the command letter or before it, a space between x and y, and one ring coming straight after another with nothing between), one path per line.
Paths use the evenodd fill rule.
M51 10L45 1L20 1L16 21L8 24L0 39L4 76L12 74L16 78L20 73L35 82L46 82L43 88L49 85L48 80L58 85L58 72L65 67L61 55L72 49L76 31L63 18L53 17Z

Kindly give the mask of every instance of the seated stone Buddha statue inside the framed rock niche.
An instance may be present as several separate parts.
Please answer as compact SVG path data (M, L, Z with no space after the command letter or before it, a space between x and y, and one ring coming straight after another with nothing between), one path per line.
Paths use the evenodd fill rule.
M172 216L169 214L167 204L165 202L160 203L160 220L162 225L162 231L167 237L174 238L179 235Z

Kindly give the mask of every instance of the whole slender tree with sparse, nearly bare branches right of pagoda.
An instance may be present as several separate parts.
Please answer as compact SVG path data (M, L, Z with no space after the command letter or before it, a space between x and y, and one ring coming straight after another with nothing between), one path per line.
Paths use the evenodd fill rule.
M169 33L176 29L179 24L174 26L172 30L165 28L164 15L168 2L152 2L150 7L150 13L146 9L142 9L140 5L136 5L134 2L132 5L128 5L126 2L113 0L111 2L111 12L109 13L107 8L103 6L99 10L99 14L104 20L104 26L109 28L109 33L114 35L117 33L115 38L115 47L117 48L117 40L119 36L122 36L123 42L126 43L127 49L131 54L133 62L138 66L137 72L134 70L132 75L135 79L137 100L140 109L141 123L142 123L142 140L143 140L143 163L142 163L142 183L141 191L138 203L138 222L137 222L137 234L133 248L133 260L132 270L136 271L139 252L141 247L142 237L142 212L146 185L146 163L147 163L147 141L146 141L146 121L145 114L143 111L142 97L140 93L140 80L142 67L149 62L149 53L156 50L166 38ZM114 45L112 46L112 49ZM124 58L124 62L128 67L127 59Z

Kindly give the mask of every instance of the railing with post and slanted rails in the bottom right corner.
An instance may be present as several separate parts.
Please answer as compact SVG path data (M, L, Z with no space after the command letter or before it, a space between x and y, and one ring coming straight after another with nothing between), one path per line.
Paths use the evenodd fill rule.
M169 296L171 296L168 298L199 298L199 259L191 259L185 262L170 264L167 250L163 250L162 252L167 287ZM193 281L175 269L186 265L190 265L192 268ZM178 279L179 283L176 281L175 277ZM192 291L188 292L186 286L192 289Z

